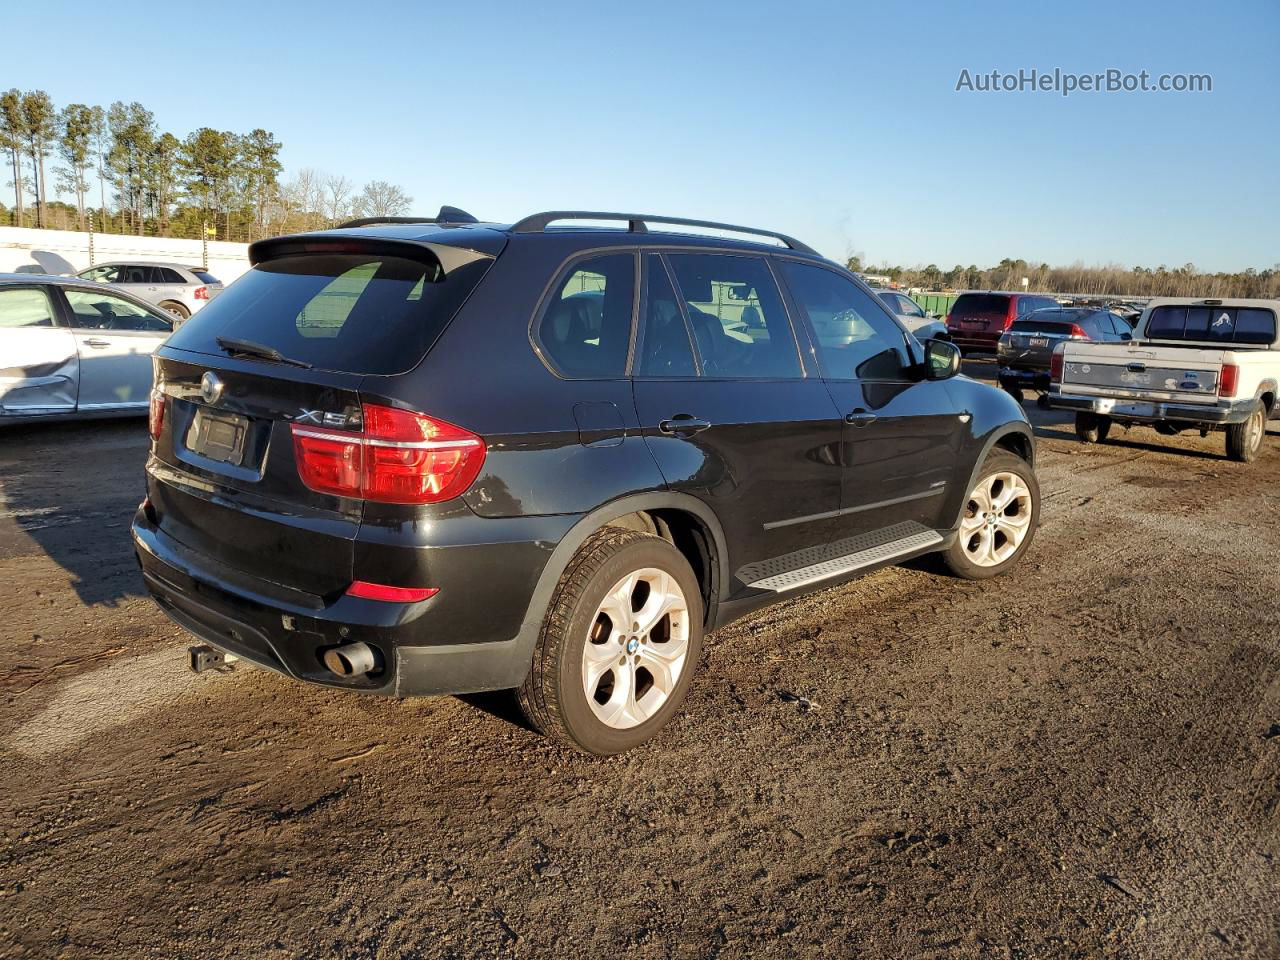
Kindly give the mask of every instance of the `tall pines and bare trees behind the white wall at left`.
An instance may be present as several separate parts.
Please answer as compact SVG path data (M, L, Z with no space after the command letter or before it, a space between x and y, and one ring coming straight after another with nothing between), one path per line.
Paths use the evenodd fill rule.
M0 156L13 207L0 202L0 224L188 238L209 229L252 241L408 212L412 197L385 180L357 189L303 169L282 182L280 146L262 128L201 127L179 138L138 102L59 110L42 90L9 90L0 93Z

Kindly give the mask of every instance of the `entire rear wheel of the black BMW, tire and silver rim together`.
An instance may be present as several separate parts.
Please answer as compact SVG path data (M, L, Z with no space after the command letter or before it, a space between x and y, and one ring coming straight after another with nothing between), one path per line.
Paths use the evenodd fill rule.
M602 756L630 750L680 708L701 641L701 593L684 556L605 527L561 579L517 700L547 736Z

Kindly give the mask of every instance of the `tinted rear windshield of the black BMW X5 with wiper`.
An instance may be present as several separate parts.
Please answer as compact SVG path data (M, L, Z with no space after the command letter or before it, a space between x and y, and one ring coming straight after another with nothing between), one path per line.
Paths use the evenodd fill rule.
M252 340L321 370L399 374L426 355L488 269L367 253L308 253L259 264L169 338L221 353L219 337Z

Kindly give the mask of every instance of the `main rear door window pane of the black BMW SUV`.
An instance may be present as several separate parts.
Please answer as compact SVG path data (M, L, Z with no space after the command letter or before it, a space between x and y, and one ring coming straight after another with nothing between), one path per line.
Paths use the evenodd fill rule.
M703 376L803 376L782 297L760 257L716 253L668 256L685 303Z

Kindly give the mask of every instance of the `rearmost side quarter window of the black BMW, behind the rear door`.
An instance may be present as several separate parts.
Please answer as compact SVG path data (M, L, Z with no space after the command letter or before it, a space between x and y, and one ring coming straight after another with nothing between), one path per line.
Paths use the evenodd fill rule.
M557 283L538 323L538 343L561 376L573 380L626 376L635 262L634 253L579 260Z

